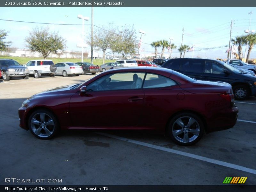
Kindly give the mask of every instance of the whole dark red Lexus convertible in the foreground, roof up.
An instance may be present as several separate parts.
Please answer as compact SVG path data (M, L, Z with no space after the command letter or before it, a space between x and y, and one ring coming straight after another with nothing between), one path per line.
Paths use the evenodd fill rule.
M20 127L39 139L60 129L118 128L167 132L180 145L196 143L204 131L233 127L237 114L230 84L148 67L108 70L82 84L37 93L19 108Z

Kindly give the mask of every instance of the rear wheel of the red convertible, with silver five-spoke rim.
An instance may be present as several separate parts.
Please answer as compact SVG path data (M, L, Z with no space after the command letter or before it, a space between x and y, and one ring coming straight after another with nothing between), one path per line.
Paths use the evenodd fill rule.
M179 145L194 145L204 134L204 124L193 113L180 113L172 118L167 132L171 140Z

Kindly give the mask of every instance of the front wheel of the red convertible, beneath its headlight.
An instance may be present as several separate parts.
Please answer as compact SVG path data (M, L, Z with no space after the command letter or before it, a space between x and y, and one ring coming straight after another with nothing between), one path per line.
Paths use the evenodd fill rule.
M59 132L59 123L55 115L44 109L34 111L28 118L30 132L39 139L51 139Z

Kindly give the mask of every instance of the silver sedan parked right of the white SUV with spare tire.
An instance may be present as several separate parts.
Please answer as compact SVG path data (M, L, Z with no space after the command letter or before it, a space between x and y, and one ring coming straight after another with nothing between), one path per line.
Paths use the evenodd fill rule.
M77 65L76 63L72 62L63 62L57 63L55 65L57 70L55 72L56 75L62 75L63 77L67 77L68 75L82 75L83 69L81 66Z

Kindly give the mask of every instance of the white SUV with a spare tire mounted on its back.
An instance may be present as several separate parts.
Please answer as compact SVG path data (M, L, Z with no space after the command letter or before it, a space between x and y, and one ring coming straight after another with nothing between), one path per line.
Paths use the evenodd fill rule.
M57 70L52 60L31 60L25 65L29 69L29 74L35 78L40 76L55 76Z

